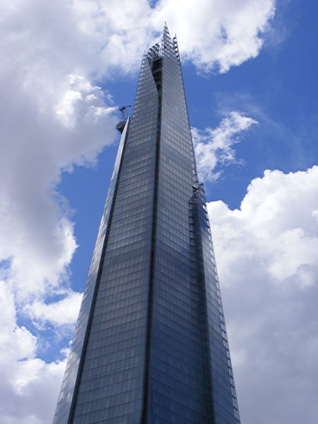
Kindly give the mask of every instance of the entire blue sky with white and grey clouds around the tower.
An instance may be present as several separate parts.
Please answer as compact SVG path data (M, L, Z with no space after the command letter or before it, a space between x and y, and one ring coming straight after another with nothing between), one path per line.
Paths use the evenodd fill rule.
M314 424L313 0L0 0L0 414L49 424L143 52L177 33L244 424Z

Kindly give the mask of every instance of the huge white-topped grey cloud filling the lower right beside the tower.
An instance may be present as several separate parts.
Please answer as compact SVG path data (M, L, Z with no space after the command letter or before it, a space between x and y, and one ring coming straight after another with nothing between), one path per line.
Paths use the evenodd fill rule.
M317 419L317 199L315 166L287 175L266 170L240 209L208 204L245 423Z

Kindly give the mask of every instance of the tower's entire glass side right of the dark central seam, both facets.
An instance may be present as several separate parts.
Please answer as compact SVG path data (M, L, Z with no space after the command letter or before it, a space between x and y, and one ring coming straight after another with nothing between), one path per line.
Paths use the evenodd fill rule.
M167 30L162 54L150 422L237 424L204 192L197 184L177 43Z

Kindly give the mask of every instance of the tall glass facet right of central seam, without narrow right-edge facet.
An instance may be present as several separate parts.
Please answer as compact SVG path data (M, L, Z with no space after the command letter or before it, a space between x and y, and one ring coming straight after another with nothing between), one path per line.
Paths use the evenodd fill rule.
M199 290L190 252L194 153L175 46L163 37L151 343L151 422L207 423Z

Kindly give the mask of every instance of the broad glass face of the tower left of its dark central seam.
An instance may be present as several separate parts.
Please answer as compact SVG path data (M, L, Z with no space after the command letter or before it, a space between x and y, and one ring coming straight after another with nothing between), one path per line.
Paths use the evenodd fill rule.
M74 423L138 423L142 410L158 92L141 67Z

